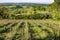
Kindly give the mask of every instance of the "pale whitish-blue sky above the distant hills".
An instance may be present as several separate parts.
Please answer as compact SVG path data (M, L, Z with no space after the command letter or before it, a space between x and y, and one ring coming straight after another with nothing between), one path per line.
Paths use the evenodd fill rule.
M0 0L0 3L6 3L6 2L51 4L54 2L54 0Z

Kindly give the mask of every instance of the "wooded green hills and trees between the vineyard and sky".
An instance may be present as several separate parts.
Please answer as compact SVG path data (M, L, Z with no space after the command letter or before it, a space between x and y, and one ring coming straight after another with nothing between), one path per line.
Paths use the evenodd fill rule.
M53 4L3 3L0 4L0 19L57 19L60 20L60 2Z

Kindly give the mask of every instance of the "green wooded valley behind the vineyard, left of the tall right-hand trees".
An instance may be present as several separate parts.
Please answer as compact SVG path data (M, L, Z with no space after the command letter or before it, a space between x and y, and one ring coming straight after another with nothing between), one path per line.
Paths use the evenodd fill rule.
M30 5L30 6L29 6ZM35 5L2 5L0 15L2 19L49 19L52 15L44 6ZM38 5L38 6L37 6ZM3 11L3 12L2 12Z

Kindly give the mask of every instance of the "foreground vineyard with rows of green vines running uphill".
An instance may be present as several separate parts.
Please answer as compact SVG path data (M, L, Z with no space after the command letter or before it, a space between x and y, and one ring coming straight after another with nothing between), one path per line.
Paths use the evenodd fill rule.
M0 20L0 40L59 40L60 23L53 20Z

